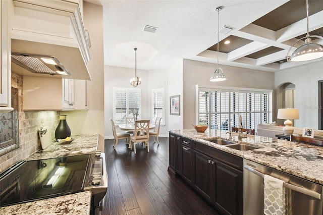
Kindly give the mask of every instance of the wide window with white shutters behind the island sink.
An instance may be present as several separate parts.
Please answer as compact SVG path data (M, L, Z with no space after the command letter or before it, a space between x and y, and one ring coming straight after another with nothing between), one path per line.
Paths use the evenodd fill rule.
M255 129L272 120L272 90L196 87L199 125L231 130L239 127L241 115L243 128Z

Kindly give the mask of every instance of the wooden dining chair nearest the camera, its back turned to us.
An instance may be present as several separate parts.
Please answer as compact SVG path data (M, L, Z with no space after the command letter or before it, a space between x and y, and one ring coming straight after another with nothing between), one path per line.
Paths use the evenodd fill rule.
M130 149L132 150L132 143L136 154L136 143L143 142L149 152L149 122L150 120L136 120L135 130L130 136Z

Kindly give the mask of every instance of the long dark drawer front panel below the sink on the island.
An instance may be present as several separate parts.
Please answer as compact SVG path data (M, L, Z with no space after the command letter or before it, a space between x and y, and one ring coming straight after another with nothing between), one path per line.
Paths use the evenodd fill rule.
M214 159L230 165L238 170L243 170L243 158L236 155L221 151L219 149L204 145L202 143L194 142L194 150L206 154Z

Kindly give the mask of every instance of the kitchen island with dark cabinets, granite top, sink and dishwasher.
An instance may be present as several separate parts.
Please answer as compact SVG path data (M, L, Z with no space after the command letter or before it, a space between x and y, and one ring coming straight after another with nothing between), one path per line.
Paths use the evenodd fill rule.
M221 214L262 214L265 167L272 169L265 174L273 173L273 177L284 177L287 184L296 185L296 192L286 191L293 193L288 194L289 205L293 205L288 207L290 214L308 214L313 208L316 212L312 214L322 214L323 147L249 134L232 133L231 137L226 131L213 129L204 133L185 129L170 131L169 148L168 170ZM257 172L255 168L260 169ZM311 197L291 198L304 194ZM257 206L247 204L250 201ZM308 205L313 208L307 208Z

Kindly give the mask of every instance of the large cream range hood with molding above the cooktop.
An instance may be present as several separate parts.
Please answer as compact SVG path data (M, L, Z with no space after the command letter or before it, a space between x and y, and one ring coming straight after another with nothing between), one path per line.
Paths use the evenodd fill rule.
M14 0L11 70L23 76L91 80L89 37L80 7L66 1Z

